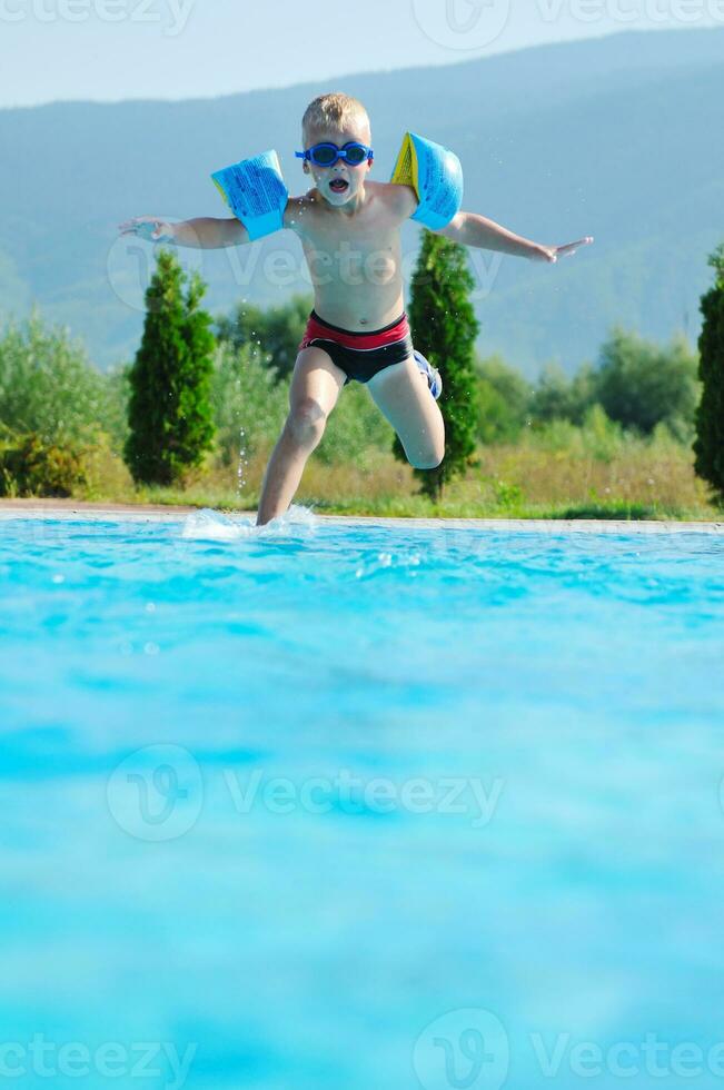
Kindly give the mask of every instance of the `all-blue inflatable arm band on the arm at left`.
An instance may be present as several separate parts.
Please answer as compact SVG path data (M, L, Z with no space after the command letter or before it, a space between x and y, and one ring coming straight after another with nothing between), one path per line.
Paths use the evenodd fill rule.
M250 239L264 238L284 227L289 190L276 151L265 151L215 170L211 179Z

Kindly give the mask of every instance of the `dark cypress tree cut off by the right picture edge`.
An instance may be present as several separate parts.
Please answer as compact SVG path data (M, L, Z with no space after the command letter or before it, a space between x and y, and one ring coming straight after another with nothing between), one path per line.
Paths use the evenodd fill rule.
M696 409L694 468L724 503L724 242L710 255L708 264L715 280L700 301L704 316L698 337L702 398Z

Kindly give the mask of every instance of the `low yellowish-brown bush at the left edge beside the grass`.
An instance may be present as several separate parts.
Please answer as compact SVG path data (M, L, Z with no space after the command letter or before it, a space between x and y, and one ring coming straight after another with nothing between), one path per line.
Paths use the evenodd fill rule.
M66 497L87 483L82 452L47 443L37 433L0 450L0 495Z

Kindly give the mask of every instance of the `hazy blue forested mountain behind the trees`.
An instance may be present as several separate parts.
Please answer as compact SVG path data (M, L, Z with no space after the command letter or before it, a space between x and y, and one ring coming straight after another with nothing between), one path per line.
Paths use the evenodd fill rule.
M470 251L482 353L533 376L546 360L572 371L593 359L614 323L697 336L706 258L724 235L724 28L622 32L334 87L0 110L0 317L37 301L100 366L131 358L152 252L119 239L117 224L227 215L211 171L269 147L303 192L301 113L331 89L369 110L373 177L389 177L411 129L459 155L466 209L542 242L595 236L555 266ZM419 230L403 231L408 275ZM289 231L179 254L208 281L212 313L310 290Z

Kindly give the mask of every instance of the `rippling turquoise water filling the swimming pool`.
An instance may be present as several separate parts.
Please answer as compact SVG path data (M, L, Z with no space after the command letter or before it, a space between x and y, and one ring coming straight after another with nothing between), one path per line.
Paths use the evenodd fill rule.
M723 562L0 522L0 1077L722 1086Z

